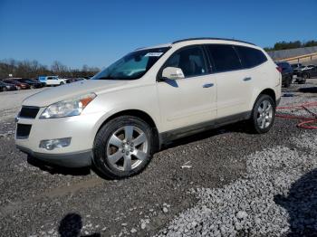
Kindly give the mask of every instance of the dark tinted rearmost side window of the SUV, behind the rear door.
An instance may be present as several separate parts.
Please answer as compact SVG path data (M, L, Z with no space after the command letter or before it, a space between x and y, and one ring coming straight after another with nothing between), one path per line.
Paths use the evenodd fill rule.
M264 53L254 48L235 46L244 68L253 68L267 61ZM283 65L283 68L288 68Z

